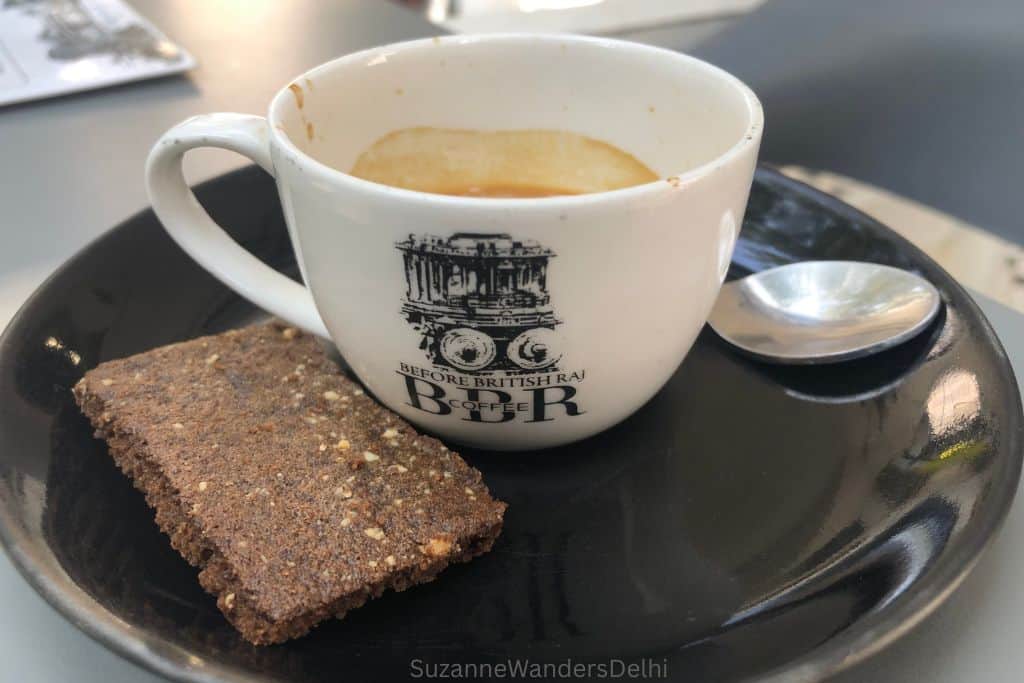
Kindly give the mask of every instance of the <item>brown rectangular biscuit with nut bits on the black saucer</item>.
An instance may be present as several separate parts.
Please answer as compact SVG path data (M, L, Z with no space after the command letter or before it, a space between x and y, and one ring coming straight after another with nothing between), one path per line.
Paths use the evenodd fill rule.
M74 392L171 545L255 644L431 581L501 531L506 506L477 470L292 328L104 362Z

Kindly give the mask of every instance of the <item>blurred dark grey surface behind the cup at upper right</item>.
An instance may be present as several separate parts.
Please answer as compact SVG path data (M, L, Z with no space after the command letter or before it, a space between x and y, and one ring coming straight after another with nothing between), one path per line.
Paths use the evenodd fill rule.
M1020 0L768 0L694 51L761 97L763 159L866 180L1020 244L1022 27Z

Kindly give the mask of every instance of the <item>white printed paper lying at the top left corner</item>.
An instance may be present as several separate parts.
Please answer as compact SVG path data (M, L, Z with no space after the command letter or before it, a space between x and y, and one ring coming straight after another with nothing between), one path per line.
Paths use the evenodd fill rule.
M0 0L0 105L195 66L122 0Z

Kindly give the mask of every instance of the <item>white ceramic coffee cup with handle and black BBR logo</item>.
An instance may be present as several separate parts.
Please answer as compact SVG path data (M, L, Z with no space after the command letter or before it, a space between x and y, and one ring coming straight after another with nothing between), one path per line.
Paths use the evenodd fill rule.
M567 130L664 179L481 199L345 172L381 136L415 126ZM189 119L153 148L146 181L182 249L254 303L331 339L388 408L458 442L538 449L610 427L675 372L725 276L762 127L746 86L676 52L456 36L317 67L274 96L266 119ZM181 162L203 146L245 155L276 178L308 289L199 206Z

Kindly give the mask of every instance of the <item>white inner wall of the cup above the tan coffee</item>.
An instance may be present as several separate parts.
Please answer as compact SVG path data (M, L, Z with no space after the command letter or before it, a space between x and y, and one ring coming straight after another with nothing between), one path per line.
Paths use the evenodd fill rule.
M662 177L714 162L755 135L739 80L669 50L600 38L457 36L351 54L283 89L274 128L341 172L402 128L567 130L609 142Z

